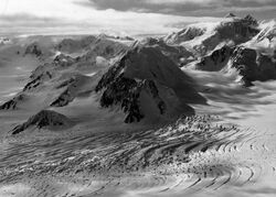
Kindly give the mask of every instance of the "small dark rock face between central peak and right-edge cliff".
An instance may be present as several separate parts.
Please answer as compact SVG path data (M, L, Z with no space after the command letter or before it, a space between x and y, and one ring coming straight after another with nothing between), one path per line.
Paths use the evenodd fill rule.
M233 51L233 47L224 45L213 51L210 55L202 57L200 62L195 64L195 69L219 72L226 66Z

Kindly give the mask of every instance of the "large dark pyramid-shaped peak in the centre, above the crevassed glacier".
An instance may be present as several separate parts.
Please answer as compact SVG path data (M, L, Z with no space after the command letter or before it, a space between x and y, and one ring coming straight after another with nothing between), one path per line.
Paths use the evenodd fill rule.
M194 83L159 50L136 45L102 77L100 106L120 106L126 123L149 117L193 113L187 103L204 102Z

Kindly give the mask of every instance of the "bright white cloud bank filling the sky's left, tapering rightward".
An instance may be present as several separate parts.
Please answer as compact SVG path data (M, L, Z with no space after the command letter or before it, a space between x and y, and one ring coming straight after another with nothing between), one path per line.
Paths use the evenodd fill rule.
M168 24L219 20L150 13L136 7L128 7L127 11L114 8L98 10L88 0L10 0L4 14L0 15L0 33L94 34L116 31L130 35L164 34L176 30Z

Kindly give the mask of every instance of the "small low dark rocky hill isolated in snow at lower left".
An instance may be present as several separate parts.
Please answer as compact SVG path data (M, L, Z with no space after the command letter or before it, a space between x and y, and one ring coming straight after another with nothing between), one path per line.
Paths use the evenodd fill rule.
M12 130L12 134L18 134L31 127L38 129L65 129L72 125L72 121L64 114L55 111L42 110L39 113L31 117L26 122L15 127Z

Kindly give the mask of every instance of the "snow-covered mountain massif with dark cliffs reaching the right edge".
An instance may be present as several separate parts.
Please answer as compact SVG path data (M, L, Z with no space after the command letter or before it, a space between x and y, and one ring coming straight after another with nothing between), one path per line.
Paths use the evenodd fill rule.
M253 85L255 80L275 79L275 21L259 23L252 15L241 19L232 14L227 19L231 20L216 25L213 32L215 36L194 39L193 43L198 42L194 46L201 48L205 48L205 42L211 41L208 44L210 51L184 66L206 72L235 73L236 80L245 86Z

